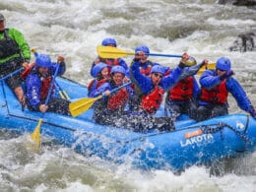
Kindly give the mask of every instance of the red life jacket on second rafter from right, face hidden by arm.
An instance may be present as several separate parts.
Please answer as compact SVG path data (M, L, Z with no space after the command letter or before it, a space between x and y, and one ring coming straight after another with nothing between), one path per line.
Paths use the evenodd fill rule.
M171 100L189 100L193 96L193 77L179 81L168 93Z

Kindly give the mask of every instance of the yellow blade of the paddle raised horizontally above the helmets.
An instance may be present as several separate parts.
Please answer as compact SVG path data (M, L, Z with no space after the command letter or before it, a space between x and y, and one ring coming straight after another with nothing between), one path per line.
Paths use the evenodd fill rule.
M100 58L117 59L127 55L135 55L134 52L127 52L112 46L97 46L96 52Z

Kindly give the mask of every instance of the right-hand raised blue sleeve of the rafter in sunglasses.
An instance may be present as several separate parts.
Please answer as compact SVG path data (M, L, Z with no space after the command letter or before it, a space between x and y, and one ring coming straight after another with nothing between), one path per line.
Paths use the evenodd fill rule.
M182 69L180 67L176 67L171 70L171 73L167 76L164 76L161 80L161 87L164 91L171 89L175 84L179 81L179 77L182 73Z

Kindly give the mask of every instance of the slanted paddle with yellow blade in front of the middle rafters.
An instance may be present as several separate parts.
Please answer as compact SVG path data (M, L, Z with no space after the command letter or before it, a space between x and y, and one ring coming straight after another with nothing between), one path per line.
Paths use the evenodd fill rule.
M118 88L113 89L110 93L114 93L118 90L120 90L123 87L129 86L131 84L131 82L128 82ZM71 102L69 104L69 110L70 113L73 117L76 117L80 114L82 114L83 112L87 111L89 108L91 108L91 106L96 102L96 100L102 98L101 96L96 96L96 97L85 97L85 98L80 98L74 102Z

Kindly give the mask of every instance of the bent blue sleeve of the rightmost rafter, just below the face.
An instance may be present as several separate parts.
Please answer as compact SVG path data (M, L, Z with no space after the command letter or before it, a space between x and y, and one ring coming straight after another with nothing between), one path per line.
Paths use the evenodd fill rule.
M222 81L219 76L215 76L214 71L206 70L199 79L201 87L211 90L212 88L220 85Z

